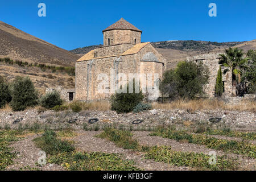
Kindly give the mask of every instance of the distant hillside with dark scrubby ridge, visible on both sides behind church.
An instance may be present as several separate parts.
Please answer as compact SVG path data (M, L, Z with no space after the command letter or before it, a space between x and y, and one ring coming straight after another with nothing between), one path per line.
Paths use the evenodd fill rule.
M172 40L162 42L151 42L164 57L167 59L167 68L175 68L176 64L185 60L187 56L195 56L210 52L222 52L224 49L233 46L240 46L243 49L253 48L251 42L207 42L195 40ZM73 49L71 52L79 56L91 51L99 46L87 46L82 48ZM256 46L255 46L256 47ZM255 49L254 47L254 49Z

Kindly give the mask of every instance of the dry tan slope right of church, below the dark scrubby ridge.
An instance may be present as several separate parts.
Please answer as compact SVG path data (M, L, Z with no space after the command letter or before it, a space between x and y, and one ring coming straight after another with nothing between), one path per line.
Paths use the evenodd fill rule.
M248 51L250 49L256 49L256 40L251 40L246 43L239 44L237 46L240 49L243 49L243 51ZM210 51L179 51L176 49L163 49L163 48L156 48L164 57L167 59L167 69L175 68L176 64L179 61L183 61L186 59L187 56L195 56L195 55L201 55L204 53L215 53L215 52L224 52L225 49L228 47L221 46L214 48Z

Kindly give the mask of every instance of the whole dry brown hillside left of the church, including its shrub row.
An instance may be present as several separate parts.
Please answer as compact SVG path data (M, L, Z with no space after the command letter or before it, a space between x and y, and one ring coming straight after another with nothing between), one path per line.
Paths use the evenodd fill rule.
M13 62L6 63L5 57L10 57ZM74 53L0 21L0 76L9 81L15 76L29 76L40 93L48 87L74 88L75 76L65 69L73 69L77 59L79 56ZM23 64L19 65L19 62ZM38 63L37 67L35 63ZM49 69L49 65L57 67Z

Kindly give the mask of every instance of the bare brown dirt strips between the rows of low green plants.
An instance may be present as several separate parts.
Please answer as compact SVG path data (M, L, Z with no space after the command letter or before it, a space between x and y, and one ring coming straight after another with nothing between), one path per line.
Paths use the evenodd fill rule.
M118 153L122 154L124 159L134 160L136 167L144 170L158 170L158 171L187 171L196 170L190 167L177 167L171 166L166 163L155 162L154 160L148 160L143 158L143 153L135 152L132 150L125 150L123 148L115 146L113 142L106 139L101 139L94 137L96 134L100 134L102 131L84 131L77 130L77 136L69 138L75 141L75 146L77 150L86 152L106 152L106 153ZM188 151L188 152L203 152L204 154L209 154L210 151L214 151L205 146L177 142L176 140L166 139L162 137L150 137L148 136L148 131L134 131L133 138L137 139L139 144L147 146L171 146L173 150L176 151ZM37 135L28 135L25 139L11 144L13 151L18 152L17 158L14 159L14 164L8 166L7 170L20 170L20 169L39 169L39 170L64 170L63 167L57 164L47 163L45 166L38 166L36 162L40 157L40 148L36 148L32 139L38 137ZM218 136L219 137L219 136ZM229 139L226 137L226 139ZM233 138L230 138L233 139ZM240 138L237 138L240 140ZM255 142L255 141L254 141ZM225 155L223 151L215 151L217 155ZM238 158L241 162L240 170L256 170L256 160L247 159L245 156L228 154L233 158ZM29 168L26 168L29 167Z

